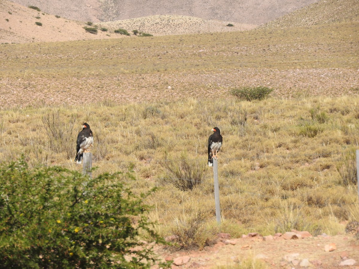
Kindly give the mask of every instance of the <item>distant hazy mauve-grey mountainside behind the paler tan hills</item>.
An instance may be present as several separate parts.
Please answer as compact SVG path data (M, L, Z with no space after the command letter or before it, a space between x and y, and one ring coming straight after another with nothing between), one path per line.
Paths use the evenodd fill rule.
M50 14L83 22L105 22L152 15L183 15L207 20L233 23L262 24L317 0L196 0L196 1L139 1L139 0L14 0L23 6L37 6ZM239 2L239 3L238 3Z

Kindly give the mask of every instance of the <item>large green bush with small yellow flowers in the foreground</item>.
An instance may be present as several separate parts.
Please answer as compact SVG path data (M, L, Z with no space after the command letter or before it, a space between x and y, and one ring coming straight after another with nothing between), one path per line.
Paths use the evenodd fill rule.
M153 246L139 236L164 243L144 215L155 189L135 195L120 175L1 164L1 268L150 268Z

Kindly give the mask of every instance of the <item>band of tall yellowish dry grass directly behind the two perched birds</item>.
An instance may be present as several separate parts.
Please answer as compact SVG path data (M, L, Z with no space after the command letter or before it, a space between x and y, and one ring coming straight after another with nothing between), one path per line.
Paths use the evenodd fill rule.
M81 171L73 161L75 138L88 122L95 137L94 175L133 167L136 180L123 180L135 193L160 187L147 202L155 206L150 218L159 222L163 235L198 212L204 212L213 232L218 227L206 143L211 128L218 126L224 137L219 154L222 231L266 235L295 228L335 234L344 232L339 223L354 218L350 210L358 203L352 181L358 102L358 96L261 102L233 97L8 108L0 110L0 157L10 162L24 154L31 165ZM181 160L203 176L192 190L174 187L165 168Z

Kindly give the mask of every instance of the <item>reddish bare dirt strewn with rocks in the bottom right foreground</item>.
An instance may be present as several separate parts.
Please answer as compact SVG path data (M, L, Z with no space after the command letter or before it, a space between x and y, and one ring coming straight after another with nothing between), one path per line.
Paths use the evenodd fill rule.
M353 235L321 235L303 239L285 240L279 237L274 240L263 240L262 237L230 239L232 244L217 242L214 246L201 251L170 252L164 248L158 253L164 259L176 259L189 256L190 260L183 265L172 265L172 268L216 268L233 266L245 259L261 259L267 268L359 268L359 242ZM335 244L336 249L325 251L325 246ZM235 244L235 245L233 245ZM292 258L293 257L293 258ZM293 259L293 261L292 261ZM309 261L308 266L300 264ZM340 265L343 261L354 259L354 265ZM224 267L224 268L225 268ZM222 267L223 268L223 267ZM251 267L256 268L256 267ZM261 267L263 268L263 266Z

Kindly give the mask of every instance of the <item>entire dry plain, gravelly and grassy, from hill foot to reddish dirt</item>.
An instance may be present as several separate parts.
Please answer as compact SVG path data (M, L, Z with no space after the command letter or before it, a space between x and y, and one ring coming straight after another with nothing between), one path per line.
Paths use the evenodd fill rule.
M342 223L359 216L358 22L345 18L244 32L142 39L132 31L106 40L1 44L1 165L24 155L29 169L80 172L75 138L88 122L94 178L122 171L106 174L104 184L123 183L135 197L148 193L141 200L151 206L146 218L159 235L174 236L173 249L204 249L218 232L344 233ZM106 32L98 27L98 35ZM221 226L206 165L215 126L224 138Z

